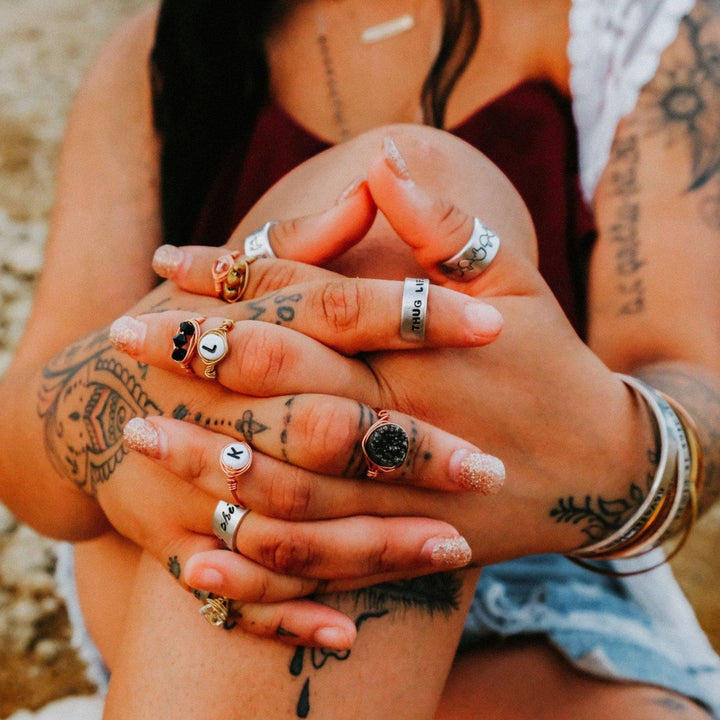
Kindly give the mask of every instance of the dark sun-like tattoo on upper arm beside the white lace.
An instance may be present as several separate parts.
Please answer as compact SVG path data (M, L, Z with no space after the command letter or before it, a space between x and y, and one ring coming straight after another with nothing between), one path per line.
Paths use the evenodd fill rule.
M720 230L720 2L699 0L643 89L637 118L648 134L682 143L690 157L687 191L703 189L703 222Z

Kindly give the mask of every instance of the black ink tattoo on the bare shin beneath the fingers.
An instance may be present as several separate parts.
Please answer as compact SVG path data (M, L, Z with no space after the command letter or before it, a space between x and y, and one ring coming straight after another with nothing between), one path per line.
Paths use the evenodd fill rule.
M345 594L356 611L355 627L361 627L369 620L394 617L399 613L417 611L429 618L441 614L444 617L460 607L462 579L458 573L438 573L411 580L381 583L373 587ZM290 660L290 674L302 682L300 695L295 705L299 718L307 718L312 705L310 686L311 671L322 670L332 662L344 662L351 656L351 650L329 650L327 648L298 647ZM307 674L306 674L307 673Z

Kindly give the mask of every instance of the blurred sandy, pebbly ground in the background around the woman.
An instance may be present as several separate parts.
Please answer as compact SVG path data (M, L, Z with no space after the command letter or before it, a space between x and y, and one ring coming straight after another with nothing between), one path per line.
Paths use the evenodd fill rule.
M22 332L42 263L70 101L99 44L145 4L0 2L0 372ZM720 507L701 523L675 568L720 649L718 547ZM0 507L0 718L93 692L55 592L54 548ZM53 717L85 717L74 702L65 700Z

